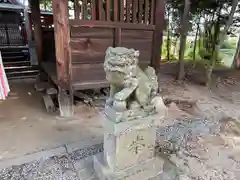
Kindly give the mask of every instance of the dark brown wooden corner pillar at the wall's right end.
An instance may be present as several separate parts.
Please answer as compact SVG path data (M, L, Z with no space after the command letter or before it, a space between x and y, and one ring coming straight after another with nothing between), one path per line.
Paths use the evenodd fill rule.
M156 73L159 73L159 69L160 69L163 30L164 30L164 9L165 9L165 0L155 0L154 24L156 28L153 35L151 66L155 68Z

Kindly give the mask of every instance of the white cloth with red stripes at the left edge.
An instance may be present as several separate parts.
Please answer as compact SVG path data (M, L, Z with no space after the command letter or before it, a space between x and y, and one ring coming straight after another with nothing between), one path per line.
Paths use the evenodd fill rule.
M7 76L3 67L2 53L0 52L0 100L5 100L10 92Z

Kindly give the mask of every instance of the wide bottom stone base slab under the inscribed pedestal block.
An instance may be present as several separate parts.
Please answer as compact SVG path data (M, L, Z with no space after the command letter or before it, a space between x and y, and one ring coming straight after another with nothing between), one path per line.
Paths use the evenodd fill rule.
M103 153L94 156L94 169L99 180L149 180L163 171L164 160L158 157L148 159L136 166L113 172L104 162Z

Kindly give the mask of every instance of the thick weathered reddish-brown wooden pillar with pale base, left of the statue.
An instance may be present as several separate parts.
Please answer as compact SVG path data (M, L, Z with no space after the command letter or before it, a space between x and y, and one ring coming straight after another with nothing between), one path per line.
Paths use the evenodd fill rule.
M52 5L60 115L63 117L71 117L73 115L73 90L71 86L68 0L53 0Z

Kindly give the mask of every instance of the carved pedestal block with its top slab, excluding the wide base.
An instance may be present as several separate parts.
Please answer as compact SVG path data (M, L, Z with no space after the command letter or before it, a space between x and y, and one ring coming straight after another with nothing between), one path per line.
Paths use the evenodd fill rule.
M116 123L104 121L104 160L112 171L135 166L154 156L157 116ZM126 161L131 159L131 161Z

